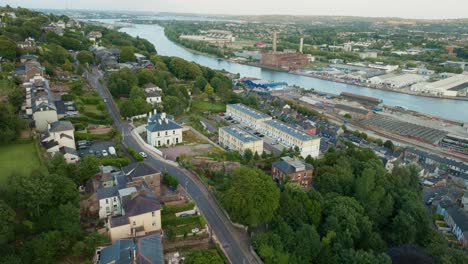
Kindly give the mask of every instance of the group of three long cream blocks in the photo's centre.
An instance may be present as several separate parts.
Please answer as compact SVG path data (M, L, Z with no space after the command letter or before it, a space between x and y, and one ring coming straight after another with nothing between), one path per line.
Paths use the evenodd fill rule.
M271 116L243 104L227 105L226 115L240 122L243 126L257 130L257 133L268 136L275 144L286 148L298 149L302 157L316 158L320 154L320 138L289 126ZM243 131L240 127L222 127L219 129L219 143L241 153L248 148L252 152L263 152L263 139ZM258 139L257 139L258 138Z

